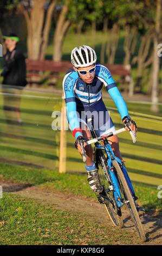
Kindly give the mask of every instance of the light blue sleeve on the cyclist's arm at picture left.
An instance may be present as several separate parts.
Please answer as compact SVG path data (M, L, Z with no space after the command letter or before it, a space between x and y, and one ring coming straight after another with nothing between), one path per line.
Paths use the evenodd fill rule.
M78 77L79 76L77 75L77 72L73 70L69 71L68 74L64 76L63 84L62 84L64 99L67 107L68 123L72 132L76 129L79 129L80 127L79 119L77 117L77 112L76 112L76 101L75 101L75 95L74 95L75 84ZM82 135L80 131L77 131L74 134L75 134L74 135L75 138Z

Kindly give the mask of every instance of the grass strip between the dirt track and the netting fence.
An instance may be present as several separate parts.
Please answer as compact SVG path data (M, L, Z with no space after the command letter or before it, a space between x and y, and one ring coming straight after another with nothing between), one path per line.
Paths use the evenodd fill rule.
M79 196L95 198L95 194L89 189L87 176L82 173L60 174L56 170L38 169L31 167L16 166L13 164L0 164L0 178L18 182L20 184L38 186L50 191L77 194ZM133 181L135 192L139 197L140 204L146 210L158 210L161 214L162 202L157 198L158 190L155 185Z

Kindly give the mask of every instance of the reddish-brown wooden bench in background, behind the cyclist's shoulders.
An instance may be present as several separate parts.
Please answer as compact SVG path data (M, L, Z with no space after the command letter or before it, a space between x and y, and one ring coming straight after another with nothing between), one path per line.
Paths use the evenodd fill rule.
M32 60L27 59L27 79L29 84L40 85L41 80L49 80L49 86L55 86L60 72L66 72L72 68L70 62L54 62L53 60ZM131 77L130 66L125 65L108 65L107 68L112 76L118 75L119 79L116 81L119 84L127 83L129 95L133 95L133 81ZM125 88L125 87L124 87Z

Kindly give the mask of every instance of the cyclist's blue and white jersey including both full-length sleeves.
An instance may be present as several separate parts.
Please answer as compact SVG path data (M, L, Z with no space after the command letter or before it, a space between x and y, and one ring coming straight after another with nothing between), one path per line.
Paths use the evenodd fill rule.
M124 118L128 115L128 110L124 99L122 98L111 72L101 64L96 64L95 77L92 83L83 82L74 69L70 69L63 79L64 99L67 106L68 121L72 130L79 127L79 121L75 126L70 120L70 112L76 111L76 107L92 107L96 102L102 99L102 87L105 86L109 95L115 102L116 107ZM73 116L74 118L74 116ZM77 118L77 115L76 115ZM74 123L74 122L73 122ZM78 136L78 134L77 134Z

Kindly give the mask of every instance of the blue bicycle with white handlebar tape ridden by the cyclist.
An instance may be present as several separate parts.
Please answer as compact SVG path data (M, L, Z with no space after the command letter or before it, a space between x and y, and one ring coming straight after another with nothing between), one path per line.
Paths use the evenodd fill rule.
M105 205L108 216L118 228L122 228L123 226L121 208L126 205L140 239L146 241L146 236L134 202L138 198L135 196L125 165L114 155L108 141L109 137L124 132L126 129L122 128L115 132L110 132L107 135L96 137L91 121L92 119L88 119L88 126L89 124L91 125L91 129L89 130L93 139L87 141L87 145L95 144L94 162L98 168L100 183L103 186L102 192L99 194L96 193L96 197L101 204ZM133 143L135 143L137 140L136 136L131 131L130 134ZM100 141L102 141L102 145L99 143ZM85 162L86 155L84 150L82 151L82 156Z

